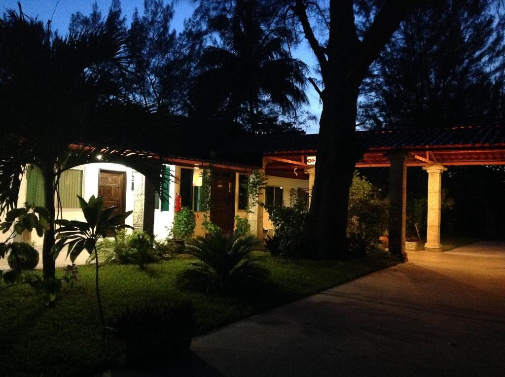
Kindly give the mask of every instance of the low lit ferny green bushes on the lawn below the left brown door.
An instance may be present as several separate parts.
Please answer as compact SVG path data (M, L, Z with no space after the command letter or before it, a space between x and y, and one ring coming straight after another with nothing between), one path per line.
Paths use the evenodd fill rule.
M160 252L155 249L151 237L141 231L128 234L126 230L116 231L114 239L103 239L96 245L99 261L103 264L137 264L145 268L147 263L161 259ZM86 263L94 260L91 254Z

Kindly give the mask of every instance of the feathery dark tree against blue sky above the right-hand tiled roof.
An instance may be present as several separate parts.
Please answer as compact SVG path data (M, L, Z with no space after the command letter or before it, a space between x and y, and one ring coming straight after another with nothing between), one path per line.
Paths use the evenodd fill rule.
M424 2L372 65L360 121L391 128L502 120L502 12L494 0Z

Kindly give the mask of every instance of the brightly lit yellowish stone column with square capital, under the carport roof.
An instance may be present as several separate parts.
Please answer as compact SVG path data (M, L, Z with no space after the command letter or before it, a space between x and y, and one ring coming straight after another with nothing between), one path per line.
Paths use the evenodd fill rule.
M428 172L428 223L425 249L440 249L440 208L442 204L442 173L447 170L441 165L423 167Z

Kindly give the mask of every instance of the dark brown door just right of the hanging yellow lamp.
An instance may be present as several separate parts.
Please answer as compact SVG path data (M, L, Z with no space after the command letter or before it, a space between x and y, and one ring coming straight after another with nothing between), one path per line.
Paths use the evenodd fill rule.
M211 188L211 221L224 234L233 231L235 214L235 174L214 172Z

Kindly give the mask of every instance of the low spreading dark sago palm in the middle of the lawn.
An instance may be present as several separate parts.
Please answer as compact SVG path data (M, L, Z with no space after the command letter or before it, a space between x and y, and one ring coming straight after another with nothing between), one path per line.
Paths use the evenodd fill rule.
M254 236L211 234L186 243L184 253L199 262L183 271L177 278L181 288L207 292L230 293L265 283L266 268L258 264L258 256L251 253L263 251L263 242Z

